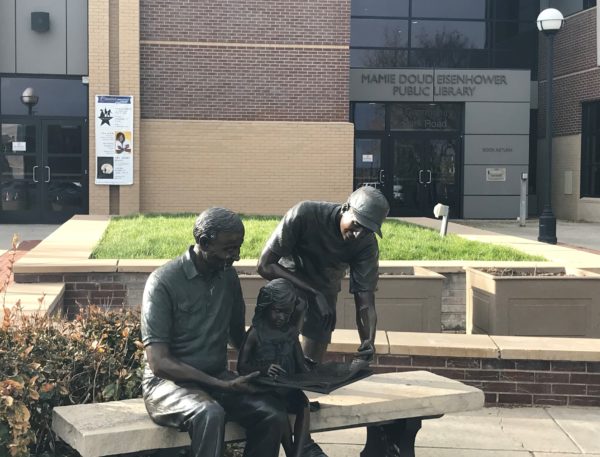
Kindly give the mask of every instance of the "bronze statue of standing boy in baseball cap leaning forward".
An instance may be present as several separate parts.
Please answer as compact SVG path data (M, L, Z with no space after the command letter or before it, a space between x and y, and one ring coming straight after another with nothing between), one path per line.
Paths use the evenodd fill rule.
M337 295L348 267L361 340L358 357L370 360L375 353L375 233L381 236L388 212L386 198L373 187L358 188L343 205L300 202L285 214L263 249L260 275L288 279L306 295L303 349L316 362L322 361L331 341Z

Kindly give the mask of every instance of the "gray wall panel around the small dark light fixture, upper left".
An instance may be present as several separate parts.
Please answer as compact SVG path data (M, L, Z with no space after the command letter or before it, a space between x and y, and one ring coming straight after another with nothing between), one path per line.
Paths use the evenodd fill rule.
M31 12L50 13L50 30L31 30ZM67 68L66 0L17 1L17 72L64 74Z

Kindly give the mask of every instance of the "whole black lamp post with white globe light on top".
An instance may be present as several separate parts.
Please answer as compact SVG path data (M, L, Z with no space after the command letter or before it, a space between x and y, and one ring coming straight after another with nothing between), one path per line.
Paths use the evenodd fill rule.
M554 51L554 36L558 33L564 22L563 15L554 8L542 11L537 18L537 26L547 38L546 55L546 202L542 214L540 214L540 227L538 241L556 244L556 217L552 212L552 59Z

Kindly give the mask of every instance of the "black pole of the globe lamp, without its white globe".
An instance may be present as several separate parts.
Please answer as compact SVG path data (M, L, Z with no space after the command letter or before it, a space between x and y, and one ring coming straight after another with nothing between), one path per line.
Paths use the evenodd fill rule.
M546 202L544 210L540 214L540 227L538 241L544 243L556 244L556 218L552 213L552 79L553 79L553 51L554 35L556 31L546 32L548 40L548 52L546 63L546 150L548 151L546 159Z

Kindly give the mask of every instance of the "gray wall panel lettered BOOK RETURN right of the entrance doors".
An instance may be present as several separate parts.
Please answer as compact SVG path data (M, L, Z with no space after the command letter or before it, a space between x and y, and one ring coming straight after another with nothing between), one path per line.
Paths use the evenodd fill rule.
M529 163L529 135L465 135L465 165Z

